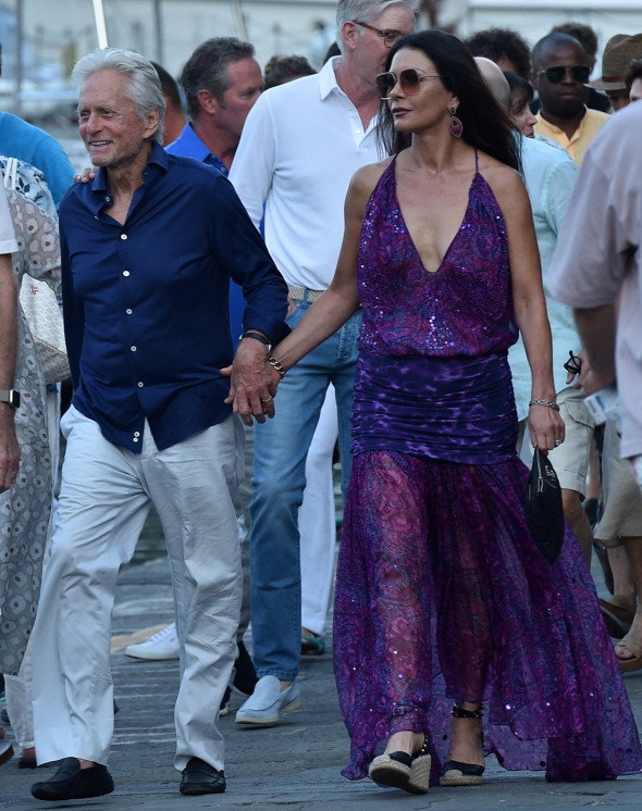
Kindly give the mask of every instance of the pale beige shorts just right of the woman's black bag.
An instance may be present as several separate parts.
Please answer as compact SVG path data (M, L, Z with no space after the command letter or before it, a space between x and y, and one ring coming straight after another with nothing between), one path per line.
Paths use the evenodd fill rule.
M559 485L565 490L575 490L580 496L587 491L587 475L593 437L593 419L580 389L568 387L557 395L559 415L564 420L565 439L558 448L548 452L548 459L557 473ZM523 432L521 448L518 448L522 460L529 464L532 460L532 448L528 431ZM520 432L521 436L521 432Z

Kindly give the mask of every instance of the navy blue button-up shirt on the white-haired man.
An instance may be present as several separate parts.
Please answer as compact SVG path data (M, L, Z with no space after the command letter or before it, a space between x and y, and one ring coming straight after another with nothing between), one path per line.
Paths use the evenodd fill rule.
M233 359L230 279L245 324L272 342L288 327L287 286L230 182L155 144L124 225L104 170L60 207L73 404L133 452L147 417L159 449L222 422Z

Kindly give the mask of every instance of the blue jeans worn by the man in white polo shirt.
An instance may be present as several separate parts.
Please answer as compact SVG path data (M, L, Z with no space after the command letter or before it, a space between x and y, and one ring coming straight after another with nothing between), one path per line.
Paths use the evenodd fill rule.
M295 327L308 309L296 302ZM301 650L298 509L306 457L330 383L336 390L344 494L351 470L350 416L361 310L289 370L279 384L276 415L255 427L250 506L251 625L259 677L295 678Z

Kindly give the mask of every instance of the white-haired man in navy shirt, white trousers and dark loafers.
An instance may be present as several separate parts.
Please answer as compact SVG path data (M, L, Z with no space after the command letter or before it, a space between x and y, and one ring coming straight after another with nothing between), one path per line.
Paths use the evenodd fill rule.
M258 370L266 346L287 332L287 288L221 173L162 149L164 101L151 63L107 49L81 60L74 77L81 135L99 171L60 209L74 397L34 631L34 720L39 762L61 763L32 794L113 790L110 615L150 503L168 542L182 642L181 791L220 793L217 715L240 602L233 498L243 440L220 373L233 358L229 286L239 284L247 301L235 390L244 419L259 421L274 413L271 377Z

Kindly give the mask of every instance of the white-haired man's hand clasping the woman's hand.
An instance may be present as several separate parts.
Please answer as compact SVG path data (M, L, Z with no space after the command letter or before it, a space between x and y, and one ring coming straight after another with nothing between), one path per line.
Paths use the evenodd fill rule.
M246 425L252 424L252 417L264 423L266 416L274 416L279 373L268 363L266 347L260 341L242 340L234 363L221 372L231 378L225 402L234 403L234 413L240 414Z

